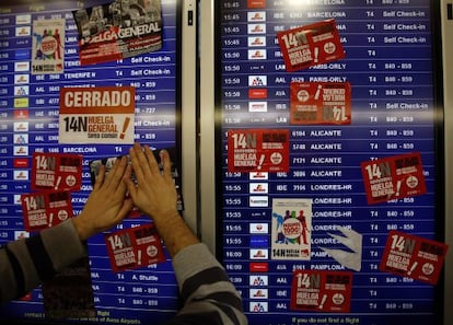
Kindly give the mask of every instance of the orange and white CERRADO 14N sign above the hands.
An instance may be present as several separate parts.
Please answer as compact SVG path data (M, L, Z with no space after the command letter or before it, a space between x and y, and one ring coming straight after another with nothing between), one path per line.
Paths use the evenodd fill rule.
M132 86L61 89L58 142L132 144L135 95Z

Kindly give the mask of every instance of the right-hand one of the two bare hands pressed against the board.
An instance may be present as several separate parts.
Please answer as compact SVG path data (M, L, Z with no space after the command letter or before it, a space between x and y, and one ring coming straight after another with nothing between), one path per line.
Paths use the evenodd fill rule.
M129 150L129 155L137 184L130 179L132 172L130 166L126 172L125 181L133 204L154 221L178 216L177 194L169 152L160 151L163 173L148 146L141 148L139 143L135 143Z

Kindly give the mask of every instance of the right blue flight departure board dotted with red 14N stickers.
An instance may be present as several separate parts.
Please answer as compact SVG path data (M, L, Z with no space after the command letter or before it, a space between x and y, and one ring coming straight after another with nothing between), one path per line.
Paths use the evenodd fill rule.
M439 8L217 7L218 256L251 324L442 324Z

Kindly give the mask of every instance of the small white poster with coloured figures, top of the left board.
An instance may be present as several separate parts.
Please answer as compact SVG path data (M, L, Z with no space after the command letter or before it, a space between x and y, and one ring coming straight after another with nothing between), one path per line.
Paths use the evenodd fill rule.
M63 72L65 28L63 19L33 22L32 74Z

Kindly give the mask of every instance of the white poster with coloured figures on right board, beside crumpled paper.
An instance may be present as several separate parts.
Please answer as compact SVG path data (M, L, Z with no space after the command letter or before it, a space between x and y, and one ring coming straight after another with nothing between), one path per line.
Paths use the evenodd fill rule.
M312 199L274 199L271 259L310 260Z

